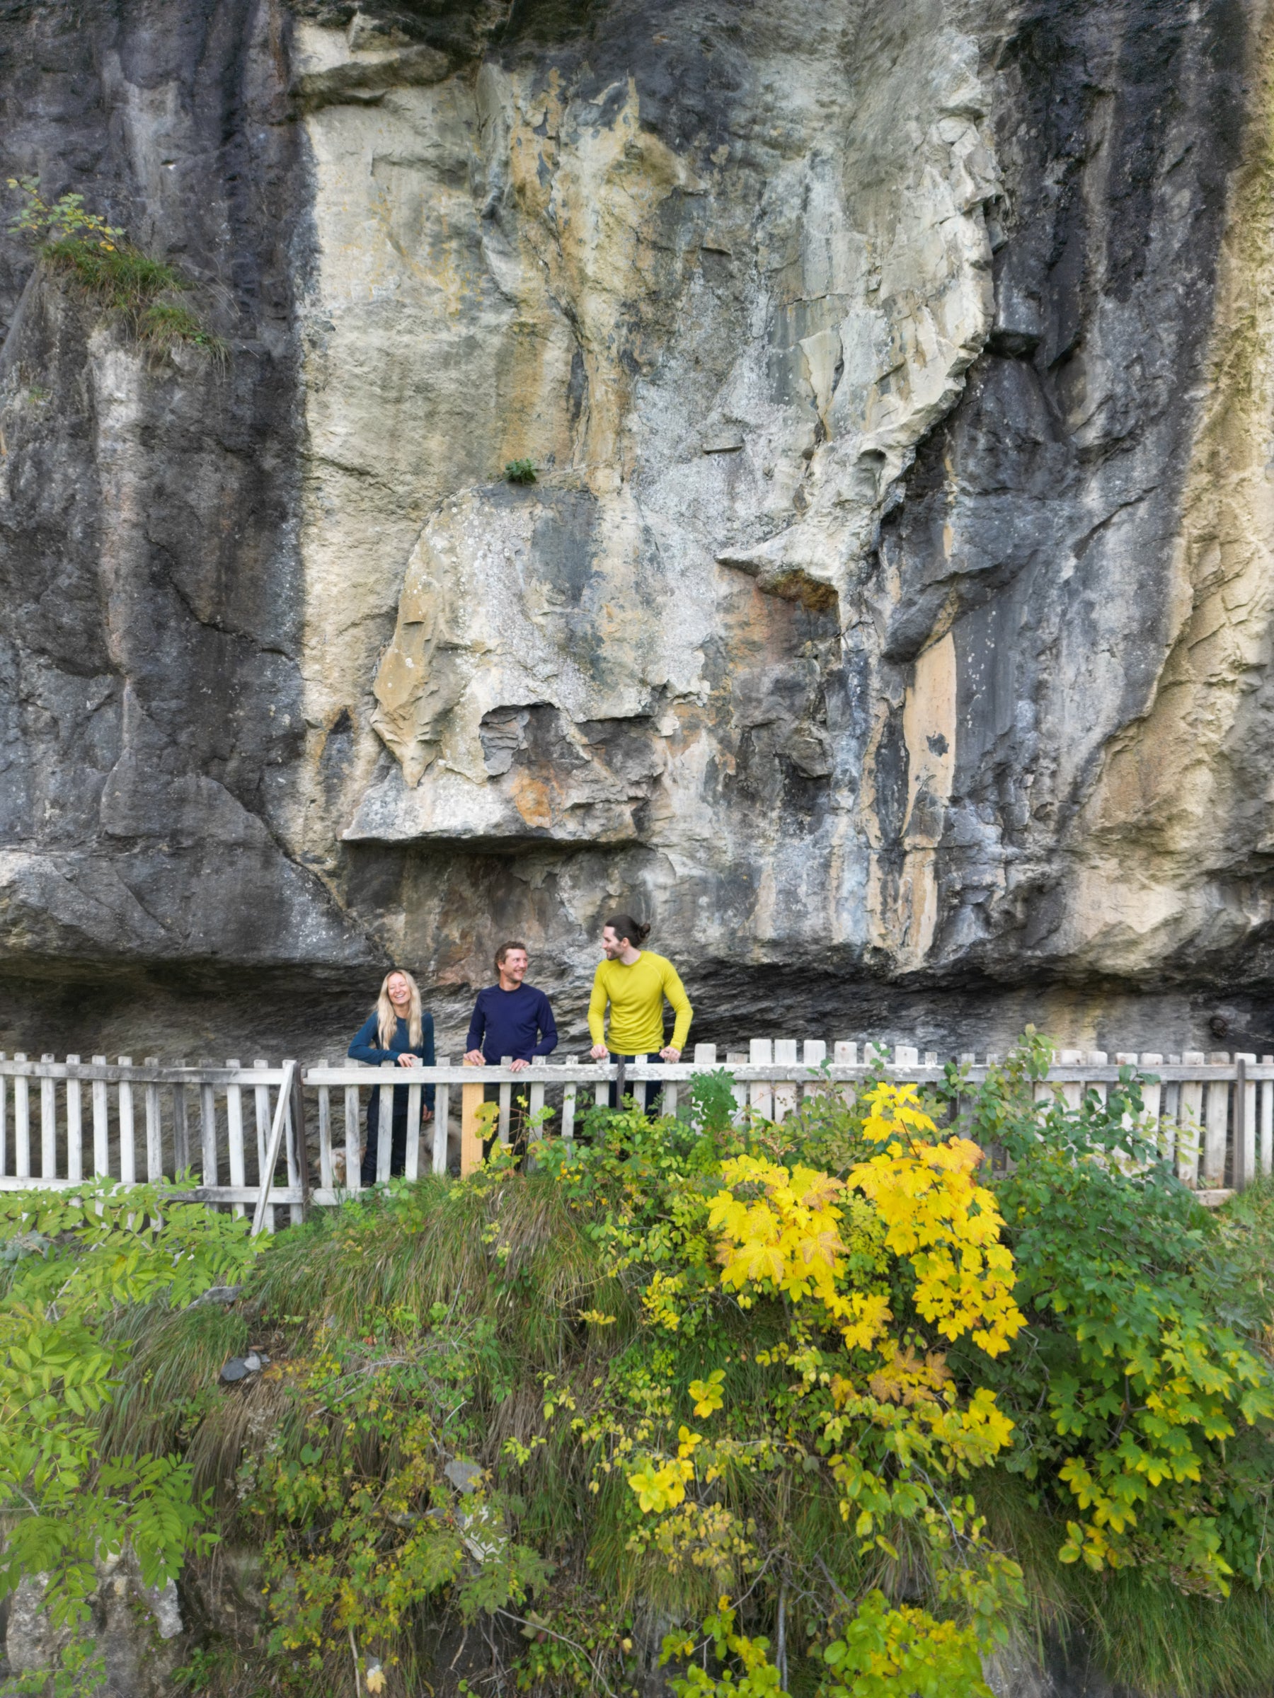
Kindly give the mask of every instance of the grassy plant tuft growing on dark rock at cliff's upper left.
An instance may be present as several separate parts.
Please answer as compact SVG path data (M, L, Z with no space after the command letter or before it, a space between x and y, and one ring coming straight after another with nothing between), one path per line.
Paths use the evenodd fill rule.
M66 194L49 205L34 177L10 177L8 187L22 195L8 228L34 238L42 258L70 273L104 307L122 312L139 341L155 348L185 343L224 358L224 341L187 306L161 299L190 289L177 267L143 253L124 239L119 226L87 212L83 195Z

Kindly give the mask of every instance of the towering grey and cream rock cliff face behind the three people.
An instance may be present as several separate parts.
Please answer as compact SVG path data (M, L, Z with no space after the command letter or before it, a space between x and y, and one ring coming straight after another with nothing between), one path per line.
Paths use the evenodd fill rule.
M7 5L229 343L5 238L7 1031L578 1012L622 903L703 1037L1269 1043L1266 12Z

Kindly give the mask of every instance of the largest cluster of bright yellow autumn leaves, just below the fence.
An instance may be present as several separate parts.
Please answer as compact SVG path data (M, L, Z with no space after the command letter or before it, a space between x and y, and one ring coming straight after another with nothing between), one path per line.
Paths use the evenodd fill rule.
M720 1284L744 1307L758 1296L783 1296L795 1319L875 1357L875 1367L849 1372L846 1362L846 1372L831 1377L834 1425L841 1414L883 1420L893 1406L899 1418L902 1411L921 1418L953 1464L989 1462L1009 1442L1012 1423L990 1391L978 1389L956 1408L943 1353L917 1350L914 1330L902 1338L890 1331L887 1285L892 1258L905 1260L914 1274L910 1302L936 1333L968 1335L989 1355L1009 1348L1024 1316L1012 1301L1012 1257L1001 1243L995 1199L975 1182L982 1151L967 1138L939 1138L914 1085L877 1087L863 1131L883 1148L844 1180L754 1155L722 1163L724 1187L707 1221L719 1240ZM659 1313L664 1290L645 1306ZM722 1380L717 1370L691 1384L695 1414L722 1408ZM629 1484L644 1511L659 1513L683 1501L691 1477L683 1445L676 1462L649 1460Z

